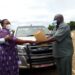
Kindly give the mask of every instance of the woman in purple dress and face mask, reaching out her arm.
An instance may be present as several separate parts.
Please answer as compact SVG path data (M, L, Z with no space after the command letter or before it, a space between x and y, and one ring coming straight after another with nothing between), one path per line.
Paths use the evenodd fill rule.
M7 19L1 22L0 38L5 42L0 44L0 75L19 75L17 44L33 43L34 41L19 40L10 33Z

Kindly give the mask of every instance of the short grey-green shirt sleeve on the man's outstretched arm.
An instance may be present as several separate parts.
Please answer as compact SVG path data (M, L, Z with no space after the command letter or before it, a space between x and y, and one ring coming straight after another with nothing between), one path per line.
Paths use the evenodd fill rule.
M61 42L68 35L69 29L70 29L69 26L59 28L53 35L53 38L55 38L56 41Z

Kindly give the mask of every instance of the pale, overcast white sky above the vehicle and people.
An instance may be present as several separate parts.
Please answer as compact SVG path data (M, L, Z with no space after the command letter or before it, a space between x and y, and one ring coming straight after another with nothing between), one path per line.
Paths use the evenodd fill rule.
M15 25L48 26L56 14L75 21L75 0L0 0L0 19Z

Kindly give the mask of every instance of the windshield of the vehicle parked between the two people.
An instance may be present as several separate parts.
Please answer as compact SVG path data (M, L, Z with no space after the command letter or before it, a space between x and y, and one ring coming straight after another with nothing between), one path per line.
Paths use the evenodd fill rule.
M21 26L16 30L17 37L33 36L35 32L42 30L45 34L49 34L49 30L44 26Z

